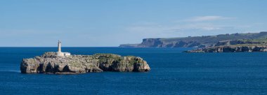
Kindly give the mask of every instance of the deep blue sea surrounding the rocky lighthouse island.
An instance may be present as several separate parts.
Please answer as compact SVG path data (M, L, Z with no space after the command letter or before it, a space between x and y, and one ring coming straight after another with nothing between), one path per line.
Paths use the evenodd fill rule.
M20 61L56 47L0 47L0 94L267 94L267 52L183 53L190 48L63 47L72 54L143 57L148 73L22 74Z

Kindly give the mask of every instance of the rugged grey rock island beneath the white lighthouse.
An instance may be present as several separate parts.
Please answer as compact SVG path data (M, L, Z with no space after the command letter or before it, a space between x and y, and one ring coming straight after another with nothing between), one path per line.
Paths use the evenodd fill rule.
M141 57L117 54L70 55L58 57L56 52L22 59L21 73L77 74L103 71L147 72L150 67Z

